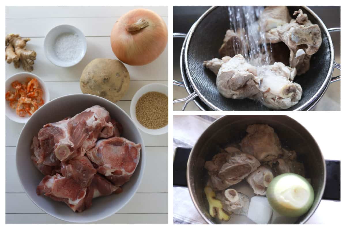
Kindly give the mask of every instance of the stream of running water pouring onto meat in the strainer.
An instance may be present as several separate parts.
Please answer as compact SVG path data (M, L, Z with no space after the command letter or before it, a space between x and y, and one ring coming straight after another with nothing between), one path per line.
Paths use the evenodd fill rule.
M262 6L229 6L230 29L239 34L241 44L235 43L244 58L254 66L270 64L271 46L265 42L265 31L258 26ZM242 32L244 31L244 32Z

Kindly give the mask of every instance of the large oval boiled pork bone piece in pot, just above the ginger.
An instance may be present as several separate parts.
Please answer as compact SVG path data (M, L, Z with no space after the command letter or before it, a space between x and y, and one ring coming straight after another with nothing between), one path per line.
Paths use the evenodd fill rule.
M260 166L260 162L244 152L221 152L204 164L214 190L224 190L242 181L258 166Z

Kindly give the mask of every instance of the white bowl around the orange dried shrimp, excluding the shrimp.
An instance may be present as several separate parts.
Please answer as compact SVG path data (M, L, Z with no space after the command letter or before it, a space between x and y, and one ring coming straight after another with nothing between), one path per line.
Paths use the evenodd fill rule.
M16 74L13 74L11 77L9 77L7 80L6 80L6 91L13 91L14 89L12 88L11 86L11 83L13 81L19 81L19 82L24 82L26 81L26 78L29 77L29 78L36 78L38 80L38 83L39 83L39 87L42 89L43 91L43 100L44 100L44 103L47 103L49 102L49 91L48 91L48 88L46 86L46 84L44 83L44 81L42 79L40 79L38 76L36 76L35 74L33 73L28 73L28 72L22 72L22 73L16 73ZM9 119L11 119L12 121L15 121L15 122L18 122L18 123L26 123L28 120L29 120L29 116L27 117L19 117L16 113L16 109L12 109L10 107L10 103L9 101L6 101L6 117L8 117ZM41 108L41 107L40 107Z

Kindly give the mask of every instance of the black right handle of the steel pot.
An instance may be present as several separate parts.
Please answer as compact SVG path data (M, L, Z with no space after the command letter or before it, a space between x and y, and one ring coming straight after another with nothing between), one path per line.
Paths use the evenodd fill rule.
M327 179L322 199L340 200L340 161L326 160Z

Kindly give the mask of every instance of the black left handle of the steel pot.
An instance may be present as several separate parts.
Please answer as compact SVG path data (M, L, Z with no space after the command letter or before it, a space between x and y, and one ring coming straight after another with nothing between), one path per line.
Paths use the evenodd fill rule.
M173 185L188 187L186 170L190 156L190 148L177 147L173 155Z

